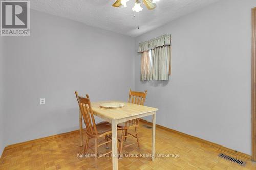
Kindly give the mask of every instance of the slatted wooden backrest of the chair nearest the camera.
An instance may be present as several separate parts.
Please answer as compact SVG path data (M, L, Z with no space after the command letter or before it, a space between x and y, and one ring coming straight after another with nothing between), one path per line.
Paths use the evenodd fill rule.
M82 98L78 96L77 91L75 91L75 94L82 113L84 124L86 124L86 131L92 135L97 135L98 131L96 128L89 95L86 94L86 98Z

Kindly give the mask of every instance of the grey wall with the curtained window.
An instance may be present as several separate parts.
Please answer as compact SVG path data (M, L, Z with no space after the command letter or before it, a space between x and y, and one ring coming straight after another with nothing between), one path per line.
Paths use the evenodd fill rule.
M220 1L136 38L137 47L172 34L169 82L141 82L136 54L136 90L148 90L157 124L251 154L253 7L255 0Z

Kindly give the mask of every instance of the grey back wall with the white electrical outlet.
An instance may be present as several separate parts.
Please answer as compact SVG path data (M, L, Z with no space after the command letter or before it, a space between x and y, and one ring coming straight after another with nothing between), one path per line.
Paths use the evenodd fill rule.
M7 37L5 145L76 130L74 91L127 100L135 39L31 11L31 36ZM46 98L46 105L39 99Z

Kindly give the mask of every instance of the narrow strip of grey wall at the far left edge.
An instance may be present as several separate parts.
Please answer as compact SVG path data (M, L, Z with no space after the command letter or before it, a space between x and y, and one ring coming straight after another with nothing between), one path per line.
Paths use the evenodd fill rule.
M4 145L4 37L0 37L0 157Z

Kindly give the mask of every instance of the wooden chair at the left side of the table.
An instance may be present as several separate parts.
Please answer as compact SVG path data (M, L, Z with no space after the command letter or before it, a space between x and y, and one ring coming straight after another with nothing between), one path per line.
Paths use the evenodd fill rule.
M78 96L77 91L75 91L76 98L79 104L80 111L82 113L82 117L84 120L84 124L86 125L86 143L84 145L84 153L86 153L87 149L90 148L92 151L93 149L89 147L89 140L94 138L95 139L95 168L97 168L97 159L110 154L112 151L107 152L103 155L98 156L98 147L106 144L108 147L108 143L111 142L111 124L108 122L100 122L98 124L95 123L93 111L91 107L91 102L89 99L89 95L86 94L86 98L81 98ZM105 137L105 141L103 143L98 143L98 139ZM108 140L110 139L110 140Z

